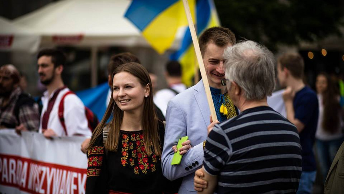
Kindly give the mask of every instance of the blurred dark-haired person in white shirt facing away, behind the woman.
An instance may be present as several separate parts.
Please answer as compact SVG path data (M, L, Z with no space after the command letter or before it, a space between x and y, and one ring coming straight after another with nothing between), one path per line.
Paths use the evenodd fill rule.
M186 89L185 84L182 83L182 67L178 61L166 63L165 79L168 88L161 89L154 94L154 103L159 107L164 116L166 115L169 101Z

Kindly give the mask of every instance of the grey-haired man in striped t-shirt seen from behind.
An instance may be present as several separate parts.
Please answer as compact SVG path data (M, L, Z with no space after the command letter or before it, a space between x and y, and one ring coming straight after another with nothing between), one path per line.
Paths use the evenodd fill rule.
M224 58L223 84L241 113L216 124L209 133L195 190L296 193L302 170L299 135L292 123L267 104L267 95L275 88L273 54L256 42L245 41L228 47ZM202 180L198 175L203 174Z

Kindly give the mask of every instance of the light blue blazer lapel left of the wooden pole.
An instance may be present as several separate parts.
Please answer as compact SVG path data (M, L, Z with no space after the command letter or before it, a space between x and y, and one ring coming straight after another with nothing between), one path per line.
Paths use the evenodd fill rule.
M207 101L207 96L205 95L205 90L203 86L203 81L199 81L194 88L196 92L194 93L198 108L201 110L201 114L206 126L210 124L210 110ZM191 108L192 109L192 108Z

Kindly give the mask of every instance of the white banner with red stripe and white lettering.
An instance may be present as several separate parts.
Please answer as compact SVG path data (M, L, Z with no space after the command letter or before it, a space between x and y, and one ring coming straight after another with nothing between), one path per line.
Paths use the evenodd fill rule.
M84 194L85 137L54 137L0 130L0 194Z

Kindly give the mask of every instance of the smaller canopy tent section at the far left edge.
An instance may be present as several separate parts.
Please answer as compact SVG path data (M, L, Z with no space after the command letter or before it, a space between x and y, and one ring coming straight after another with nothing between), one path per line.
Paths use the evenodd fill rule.
M13 24L0 16L0 50L33 53L40 45L40 37L30 29Z

